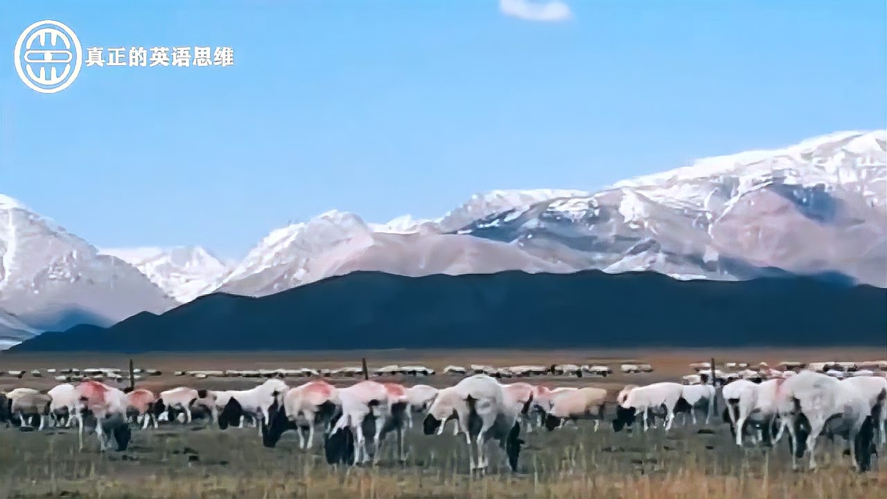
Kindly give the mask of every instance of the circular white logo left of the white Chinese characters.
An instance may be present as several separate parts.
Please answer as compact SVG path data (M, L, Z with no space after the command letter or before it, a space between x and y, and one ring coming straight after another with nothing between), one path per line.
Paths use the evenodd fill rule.
M71 28L57 20L28 26L15 43L15 71L40 93L63 91L80 74L83 51Z

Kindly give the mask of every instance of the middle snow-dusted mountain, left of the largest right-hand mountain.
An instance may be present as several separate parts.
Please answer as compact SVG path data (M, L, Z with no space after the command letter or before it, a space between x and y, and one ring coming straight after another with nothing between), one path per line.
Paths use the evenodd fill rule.
M388 224L366 223L353 213L327 211L308 222L274 230L249 251L217 290L263 296L333 275L378 270L401 275L577 270L522 251L517 246L484 242L451 232L464 220L525 208L582 191L555 189L492 191L475 194L437 220L409 215Z

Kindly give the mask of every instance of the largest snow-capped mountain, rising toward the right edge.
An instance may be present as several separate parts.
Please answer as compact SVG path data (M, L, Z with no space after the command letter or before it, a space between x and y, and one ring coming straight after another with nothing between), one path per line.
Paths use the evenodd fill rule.
M885 132L707 158L459 229L607 272L748 279L780 269L887 287Z

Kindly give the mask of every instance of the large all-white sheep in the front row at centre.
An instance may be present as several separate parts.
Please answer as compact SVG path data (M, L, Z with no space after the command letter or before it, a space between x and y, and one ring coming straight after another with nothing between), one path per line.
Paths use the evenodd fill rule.
M435 433L455 413L459 426L465 429L471 471L483 473L486 470L489 462L483 447L492 439L505 448L509 466L512 471L517 471L523 440L518 438L521 426L517 421L519 411L515 409L516 401L501 384L490 376L475 375L437 393L428 409L423 431L426 435Z

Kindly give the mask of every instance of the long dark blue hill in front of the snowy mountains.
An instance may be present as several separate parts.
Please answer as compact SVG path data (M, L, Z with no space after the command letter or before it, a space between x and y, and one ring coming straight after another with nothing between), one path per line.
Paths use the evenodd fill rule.
M358 272L262 298L201 297L27 351L887 344L887 289L805 277Z

